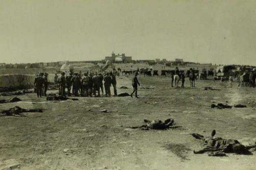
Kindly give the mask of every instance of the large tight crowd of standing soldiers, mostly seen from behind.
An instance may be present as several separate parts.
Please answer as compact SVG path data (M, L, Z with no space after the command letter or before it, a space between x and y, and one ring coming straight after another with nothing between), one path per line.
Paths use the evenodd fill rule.
M86 72L82 74L69 73L69 75L65 76L65 72L61 73L61 77L58 77L55 74L54 84L59 86L59 94L61 96L95 96L100 97L100 90L102 91L102 97L104 96L103 85L105 89L105 96L111 96L111 85L113 86L114 96L117 96L117 81L116 81L115 72L106 72L105 74L94 72ZM103 83L104 81L104 83ZM67 88L67 93L66 93ZM72 91L71 91L72 89Z

